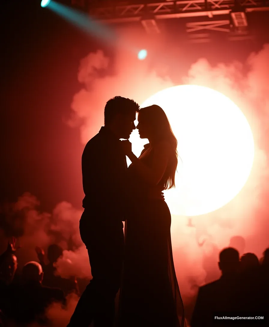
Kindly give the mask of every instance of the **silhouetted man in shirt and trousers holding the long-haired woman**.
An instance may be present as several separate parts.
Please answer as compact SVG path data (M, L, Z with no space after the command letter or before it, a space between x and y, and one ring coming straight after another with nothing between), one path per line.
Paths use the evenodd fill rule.
M135 129L139 105L115 96L104 108L104 127L85 146L82 178L85 209L80 235L88 250L92 280L82 294L68 327L110 327L114 324L115 297L119 290L124 251L126 156L119 139ZM161 193L156 195L162 197Z

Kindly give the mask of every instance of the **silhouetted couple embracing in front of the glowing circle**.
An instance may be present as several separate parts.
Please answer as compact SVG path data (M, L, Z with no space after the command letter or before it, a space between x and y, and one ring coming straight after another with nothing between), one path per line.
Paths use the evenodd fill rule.
M128 140L136 112L140 138L149 140L139 158ZM126 156L132 162L129 168ZM120 96L106 103L104 127L82 155L85 210L80 235L93 278L68 327L91 322L114 326L119 288L119 326L184 326L171 215L162 193L174 186L177 162L177 140L162 108L139 110L134 100Z

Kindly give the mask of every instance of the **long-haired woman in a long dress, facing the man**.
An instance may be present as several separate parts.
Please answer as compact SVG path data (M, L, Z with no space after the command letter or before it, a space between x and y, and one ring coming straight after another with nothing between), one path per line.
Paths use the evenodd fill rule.
M125 221L119 325L184 327L172 254L171 214L164 200L148 196L152 187L163 191L175 186L177 139L161 107L142 108L137 119L140 138L147 138L149 144L137 158L132 144L122 141L132 164L128 168L131 207Z

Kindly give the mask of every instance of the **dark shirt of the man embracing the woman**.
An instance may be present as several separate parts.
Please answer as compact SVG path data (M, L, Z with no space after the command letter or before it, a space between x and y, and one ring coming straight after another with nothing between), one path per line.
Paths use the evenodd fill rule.
M91 220L122 225L126 156L121 141L106 127L90 139L82 154L82 180L85 198L82 206Z

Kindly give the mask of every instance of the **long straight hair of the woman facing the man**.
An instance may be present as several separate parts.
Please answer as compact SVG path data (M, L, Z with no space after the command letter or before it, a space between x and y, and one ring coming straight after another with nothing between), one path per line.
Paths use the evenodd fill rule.
M162 179L164 189L169 190L175 187L175 174L178 165L178 141L161 107L153 104L152 106L141 108L138 115L143 118L144 123L150 127L152 142L166 141L171 146L171 156Z

